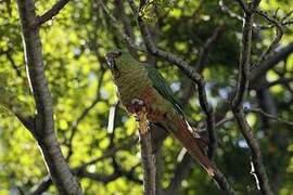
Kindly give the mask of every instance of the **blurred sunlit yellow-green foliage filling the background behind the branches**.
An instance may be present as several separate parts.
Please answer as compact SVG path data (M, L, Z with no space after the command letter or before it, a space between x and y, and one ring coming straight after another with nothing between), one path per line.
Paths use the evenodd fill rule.
M55 1L37 1L37 13L41 15ZM118 2L124 10L117 10ZM227 1L228 4L228 1ZM262 1L260 8L273 13L277 8L283 17L292 8L292 1ZM237 3L229 8L242 14ZM119 12L119 11L123 11ZM34 98L29 90L25 69L24 49L21 37L18 12L15 1L0 3L0 103L12 106L12 110L34 114ZM114 14L112 14L114 13ZM119 16L120 14L120 16ZM123 15L125 14L125 15ZM190 65L195 65L201 49L215 29L222 26L222 32L206 54L202 75L206 81L208 99L219 110L227 102L227 95L235 86L238 60L240 55L242 22L225 13L216 0L211 1L148 1L141 13L152 27L152 34L160 48L177 53ZM104 55L113 48L120 47L120 37L113 18L124 28L137 44L142 44L141 35L126 1L73 1L56 17L40 29L46 76L54 103L55 129L65 156L68 155L73 127L82 112L94 103L93 108L76 127L72 140L72 168L102 156L113 146L137 138L137 123L133 117L116 106L117 98L109 70L104 70ZM267 23L257 17L262 25ZM122 25L120 25L122 24ZM126 26L129 25L129 26ZM127 31L128 30L128 31ZM293 40L292 25L285 31L280 47ZM273 28L254 31L253 56L256 62L271 42ZM187 77L175 66L149 55L139 53L141 58L156 65L169 81L176 95L183 102L191 123L203 123L204 114L198 101L196 91L190 88ZM293 55L281 61L266 75L268 81L293 77ZM257 81L257 80L256 80ZM2 89L9 91L4 93ZM187 91L189 90L189 91ZM258 90L258 91L257 91ZM191 92L192 94L189 94ZM284 120L293 117L292 81L272 86L264 90L251 90L246 98L247 107L259 107L267 102L265 93L271 98L270 108ZM3 101L4 100L4 103ZM9 100L9 101L8 101ZM109 128L110 110L117 107L113 131ZM29 131L10 112L1 110L0 120L0 194L13 190L29 192L47 176L47 169L36 141ZM266 112L269 112L266 109ZM219 116L229 117L230 112L219 110ZM264 162L276 192L289 195L293 191L293 132L292 126L269 120L257 113L250 113L249 122L260 143ZM235 122L228 121L216 129L218 145L216 162L240 194L255 194L256 186L250 174L250 151ZM174 176L180 145L171 138L164 141L161 152L162 186L169 185ZM120 176L109 182L94 181L82 177L80 182L86 194L141 194L142 168L139 166L139 145L119 150L113 157L99 160L87 171L103 177L111 176L115 166ZM131 176L131 177L129 177ZM182 181L180 194L218 194L218 190L198 165ZM52 185L49 193L54 194Z

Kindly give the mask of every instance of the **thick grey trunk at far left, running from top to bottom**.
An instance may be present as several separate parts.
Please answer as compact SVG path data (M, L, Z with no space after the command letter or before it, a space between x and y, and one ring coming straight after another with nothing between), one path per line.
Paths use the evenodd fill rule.
M37 117L33 135L43 154L47 167L60 194L81 194L77 180L72 174L62 155L54 132L52 98L43 70L41 42L33 0L17 0L24 38L26 67L36 102Z

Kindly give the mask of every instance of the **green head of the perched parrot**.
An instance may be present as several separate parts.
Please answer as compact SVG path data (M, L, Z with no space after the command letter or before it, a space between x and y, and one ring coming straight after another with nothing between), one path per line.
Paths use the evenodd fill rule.
M114 77L129 72L137 64L137 61L128 52L118 49L106 53L106 62Z

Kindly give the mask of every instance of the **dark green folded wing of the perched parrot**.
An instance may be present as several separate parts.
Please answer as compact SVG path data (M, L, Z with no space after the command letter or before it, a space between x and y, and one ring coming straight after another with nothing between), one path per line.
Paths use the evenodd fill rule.
M165 81L163 76L158 73L158 70L148 64L144 67L148 70L148 75L153 82L153 87L158 91L158 93L164 99L166 99L174 105L177 112L179 112L182 116L184 116L179 102L175 99L175 94L173 93L170 87L167 84L167 82Z

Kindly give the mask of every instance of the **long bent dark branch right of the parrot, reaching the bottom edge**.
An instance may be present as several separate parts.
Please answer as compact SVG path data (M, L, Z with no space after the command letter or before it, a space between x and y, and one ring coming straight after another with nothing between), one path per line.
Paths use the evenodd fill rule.
M239 79L235 94L231 101L231 109L234 118L241 130L241 133L245 138L252 157L252 173L256 179L257 188L260 190L264 195L272 195L268 183L268 177L263 165L262 153L256 139L253 135L252 129L245 119L243 112L243 100L247 93L250 82L250 60L251 60L251 44L252 44L252 29L253 29L253 16L258 1L254 1L251 4L250 10L245 11L245 21L242 35L242 54L240 56L239 64Z

